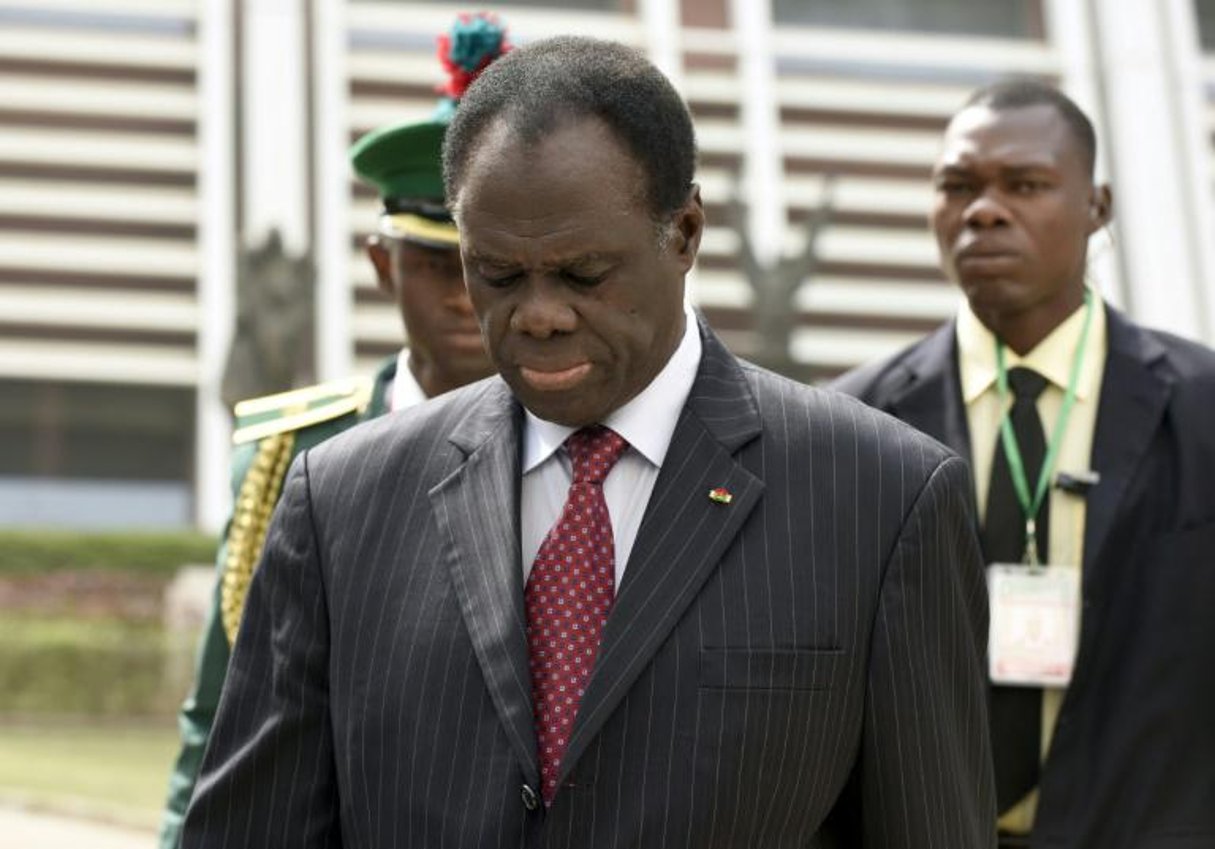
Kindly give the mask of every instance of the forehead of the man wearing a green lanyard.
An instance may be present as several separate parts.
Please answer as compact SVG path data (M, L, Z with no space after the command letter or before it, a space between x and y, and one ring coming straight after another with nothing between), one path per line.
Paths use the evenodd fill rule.
M1001 168L1058 166L1079 162L1079 145L1049 104L962 109L945 128L937 170L973 164Z

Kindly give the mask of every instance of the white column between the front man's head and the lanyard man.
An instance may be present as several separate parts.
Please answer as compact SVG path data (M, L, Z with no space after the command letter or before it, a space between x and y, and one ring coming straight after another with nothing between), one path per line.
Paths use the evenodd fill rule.
M769 0L731 0L742 84L742 189L756 259L770 265L785 239L784 158Z

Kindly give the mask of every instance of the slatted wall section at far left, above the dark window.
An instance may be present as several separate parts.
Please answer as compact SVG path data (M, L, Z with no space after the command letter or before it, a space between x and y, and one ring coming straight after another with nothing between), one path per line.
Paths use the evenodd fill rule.
M194 4L0 11L0 378L192 385Z

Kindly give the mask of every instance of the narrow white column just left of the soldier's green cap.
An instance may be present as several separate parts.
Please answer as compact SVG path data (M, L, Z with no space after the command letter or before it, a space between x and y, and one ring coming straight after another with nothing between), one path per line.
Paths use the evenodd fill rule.
M312 4L312 140L316 151L317 378L354 370L354 282L350 279L350 165L345 0Z

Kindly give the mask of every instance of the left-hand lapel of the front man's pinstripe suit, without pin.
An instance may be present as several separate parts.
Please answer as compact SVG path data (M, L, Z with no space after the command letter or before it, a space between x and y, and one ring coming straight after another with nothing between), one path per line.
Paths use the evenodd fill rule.
M519 553L521 408L488 384L450 440L464 462L430 491L460 615L529 783L538 786Z

